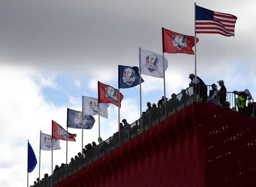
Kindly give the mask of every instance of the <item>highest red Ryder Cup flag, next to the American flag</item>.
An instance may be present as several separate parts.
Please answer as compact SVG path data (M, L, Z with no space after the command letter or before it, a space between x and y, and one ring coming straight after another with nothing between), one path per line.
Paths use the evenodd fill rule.
M195 45L195 37L181 35L162 27L163 52L194 54L192 48ZM199 39L196 38L196 42Z

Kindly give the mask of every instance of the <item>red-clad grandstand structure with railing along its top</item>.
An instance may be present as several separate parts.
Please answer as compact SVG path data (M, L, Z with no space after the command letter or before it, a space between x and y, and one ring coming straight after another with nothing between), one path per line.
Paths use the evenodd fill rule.
M185 92L35 186L255 186L255 108L239 114L231 92L231 109Z

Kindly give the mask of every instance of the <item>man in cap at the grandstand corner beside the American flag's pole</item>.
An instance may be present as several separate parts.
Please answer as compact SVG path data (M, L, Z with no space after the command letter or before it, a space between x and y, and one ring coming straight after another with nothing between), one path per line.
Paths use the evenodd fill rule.
M204 81L199 76L195 76L195 74L189 74L188 78L191 79L189 86L195 88L194 93L199 94L203 102L207 101L207 86Z

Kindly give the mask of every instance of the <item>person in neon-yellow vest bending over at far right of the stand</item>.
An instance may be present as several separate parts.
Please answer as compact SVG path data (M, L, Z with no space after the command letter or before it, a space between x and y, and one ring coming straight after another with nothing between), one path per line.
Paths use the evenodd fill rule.
M240 114L245 114L245 115L249 115L249 112L247 110L246 107L246 101L247 99L253 99L251 97L251 93L248 89L246 89L245 91L233 91L234 94L237 94L237 107L238 107L238 112Z

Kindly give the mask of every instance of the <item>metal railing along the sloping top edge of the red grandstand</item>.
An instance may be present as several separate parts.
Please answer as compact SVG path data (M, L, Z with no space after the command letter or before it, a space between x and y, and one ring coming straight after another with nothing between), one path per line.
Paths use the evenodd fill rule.
M102 141L99 145L92 148L92 150L86 152L86 154L80 156L78 159L69 163L65 167L61 168L59 171L53 173L53 175L47 177L46 179L39 182L39 184L36 184L34 186L53 186L58 182L64 180L68 176L71 176L74 173L78 172L80 169L86 167L95 160L108 154L108 152L114 150L119 146L122 146L124 143L130 141L130 139L133 139L137 135L150 129L152 126L159 124L167 117L172 116L173 114L187 107L188 105L194 102L209 103L208 96L210 94L210 87L211 86L207 85L204 87L189 87L183 90L176 96L167 100L166 103L160 105L158 108L144 114L141 118L130 124L129 128L125 128L122 131L115 133L112 137L106 139L106 141ZM218 92L218 94L220 94L220 92ZM236 95L233 94L233 92L226 92L226 94L226 101L228 101L230 105L229 107L226 105L224 107L237 111ZM210 103L220 105L219 97L217 96L216 101ZM251 114L251 116L253 116L254 114L255 112L253 110L253 114Z

